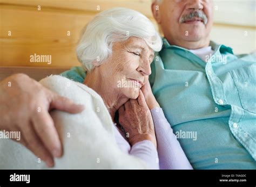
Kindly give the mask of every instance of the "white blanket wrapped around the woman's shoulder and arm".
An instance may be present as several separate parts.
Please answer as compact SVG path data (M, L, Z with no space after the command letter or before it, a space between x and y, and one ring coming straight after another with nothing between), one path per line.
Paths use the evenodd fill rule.
M117 146L113 124L103 99L84 84L54 75L40 81L45 87L85 105L79 114L52 111L64 155L53 169L144 169L146 163ZM11 112L11 111L10 111ZM0 169L48 169L20 143L0 139Z

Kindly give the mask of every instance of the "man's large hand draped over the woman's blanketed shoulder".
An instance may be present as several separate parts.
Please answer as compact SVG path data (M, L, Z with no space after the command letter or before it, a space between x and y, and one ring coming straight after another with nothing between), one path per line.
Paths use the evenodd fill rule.
M78 113L84 109L25 74L15 74L0 82L0 106L0 130L20 131L21 143L49 167L54 164L53 157L62 156L62 145L49 111Z

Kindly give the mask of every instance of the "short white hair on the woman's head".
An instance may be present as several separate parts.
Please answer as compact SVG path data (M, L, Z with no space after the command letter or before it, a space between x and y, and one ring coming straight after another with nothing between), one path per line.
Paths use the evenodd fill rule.
M153 23L142 13L126 8L113 8L98 13L85 27L77 46L77 58L85 71L93 62L102 64L112 54L113 42L137 37L158 52L162 40Z

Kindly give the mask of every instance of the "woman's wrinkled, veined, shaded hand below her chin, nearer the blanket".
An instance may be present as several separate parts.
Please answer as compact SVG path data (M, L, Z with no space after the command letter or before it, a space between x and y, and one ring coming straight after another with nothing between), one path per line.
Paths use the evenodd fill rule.
M157 147L153 119L141 90L137 99L128 100L118 112L119 123L129 133L127 138L132 146L139 141L149 140Z

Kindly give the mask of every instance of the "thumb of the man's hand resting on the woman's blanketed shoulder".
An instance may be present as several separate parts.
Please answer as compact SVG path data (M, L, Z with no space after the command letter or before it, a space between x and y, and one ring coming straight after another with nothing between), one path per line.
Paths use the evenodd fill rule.
M79 113L84 110L84 106L73 103L70 99L53 93L50 109L58 109L69 113Z

